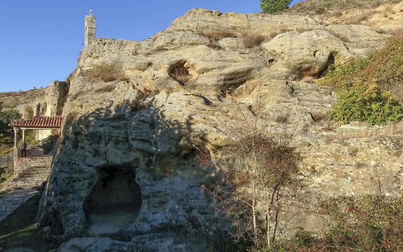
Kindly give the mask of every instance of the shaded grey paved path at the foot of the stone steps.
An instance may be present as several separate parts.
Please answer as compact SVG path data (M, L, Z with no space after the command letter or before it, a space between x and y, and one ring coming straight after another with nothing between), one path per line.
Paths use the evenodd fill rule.
M13 191L0 198L0 221L9 216L24 202L35 196L38 191L35 188Z

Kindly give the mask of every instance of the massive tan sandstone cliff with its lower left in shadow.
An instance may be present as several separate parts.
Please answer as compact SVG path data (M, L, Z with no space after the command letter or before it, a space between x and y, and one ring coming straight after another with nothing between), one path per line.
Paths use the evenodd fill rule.
M243 45L244 29L270 34L280 27L292 31L253 48ZM301 27L307 31L296 31ZM238 38L216 41L199 32L230 28ZM91 206L97 202L111 209L103 217L123 216L122 206L133 207L130 214L137 214L106 231L120 241L88 238L94 248L99 240L100 245L115 242L126 248L148 244L146 250L153 250L148 240L157 239L178 250L183 243L173 233L228 237L231 223L215 211L220 203L202 187L217 179L223 164L206 166L195 157L197 146L205 147L213 159L219 155L229 143L222 123L240 111L253 114L259 109L262 130L274 135L296 133L292 145L304 156L311 199L366 193L372 186L369 169L388 167L399 177L401 132L396 130L393 138L391 131L377 138L356 137L357 131L323 119L336 101L330 88L297 80L306 71L320 74L333 61L365 55L388 37L360 26L363 33L341 39L342 29L356 31L354 26L325 27L297 16L195 9L152 39L91 41L63 109L64 126L40 205L41 230L56 239L93 236L91 216L97 213ZM89 80L86 73L104 61L120 64L125 80ZM175 69L183 70L185 78L176 76ZM263 101L259 106L257 97ZM131 192L137 196L128 200L117 181L135 181ZM396 183L386 179L386 185L388 194L396 195ZM121 190L112 194L108 188ZM321 229L327 223L319 217L301 214L290 227Z

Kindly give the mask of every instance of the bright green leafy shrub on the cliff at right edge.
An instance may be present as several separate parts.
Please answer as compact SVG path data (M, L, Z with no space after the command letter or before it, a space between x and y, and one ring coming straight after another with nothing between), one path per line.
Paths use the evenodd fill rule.
M357 82L337 92L338 102L329 111L336 121L368 121L371 124L386 124L403 117L403 106L390 92L381 91L375 83Z

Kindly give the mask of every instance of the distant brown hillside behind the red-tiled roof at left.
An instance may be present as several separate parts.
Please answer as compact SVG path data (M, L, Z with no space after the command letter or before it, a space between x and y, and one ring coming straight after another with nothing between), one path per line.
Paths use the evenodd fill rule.
M0 101L3 101L4 109L13 109L20 104L27 104L45 94L45 88L31 89L27 91L0 93Z

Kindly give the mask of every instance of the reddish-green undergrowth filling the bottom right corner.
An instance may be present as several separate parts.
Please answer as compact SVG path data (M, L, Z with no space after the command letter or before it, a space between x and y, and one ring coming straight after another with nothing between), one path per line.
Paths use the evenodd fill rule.
M273 251L401 251L403 195L338 197L322 202L322 214L335 223L323 233L298 230Z

